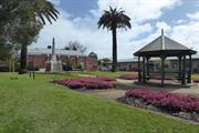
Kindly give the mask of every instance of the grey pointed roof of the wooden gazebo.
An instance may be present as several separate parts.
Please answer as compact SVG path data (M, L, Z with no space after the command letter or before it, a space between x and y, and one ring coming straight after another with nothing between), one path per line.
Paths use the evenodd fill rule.
M158 57L161 53L165 53L166 55L178 55L182 53L195 54L196 51L180 44L179 42L176 42L172 39L169 39L168 37L164 35L164 31L161 31L160 37L135 52L134 55L148 54L149 57Z

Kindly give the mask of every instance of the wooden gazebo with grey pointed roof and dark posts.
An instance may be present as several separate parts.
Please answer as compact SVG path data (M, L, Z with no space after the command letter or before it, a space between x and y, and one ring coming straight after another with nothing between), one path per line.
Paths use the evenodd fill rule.
M164 35L164 30L161 30L160 37L158 37L157 39L134 53L135 57L138 57L138 82L146 83L147 80L153 79L149 73L149 59L160 58L161 68L159 71L159 79L161 80L161 85L164 85L164 81L166 80L167 74L167 72L165 72L165 60L168 57L177 57L179 70L177 72L178 76L176 78L181 81L181 85L186 85L186 83L191 83L191 54L196 53L196 51ZM186 72L186 57L189 57L188 72Z

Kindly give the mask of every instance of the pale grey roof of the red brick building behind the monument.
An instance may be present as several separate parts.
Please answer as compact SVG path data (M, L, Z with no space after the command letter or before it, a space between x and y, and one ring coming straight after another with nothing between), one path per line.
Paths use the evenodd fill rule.
M52 49L48 48L35 48L35 49L28 49L29 55L40 55L40 54L52 54ZM55 54L57 55L71 55L71 57L86 57L85 53L74 50L62 50L55 49Z

